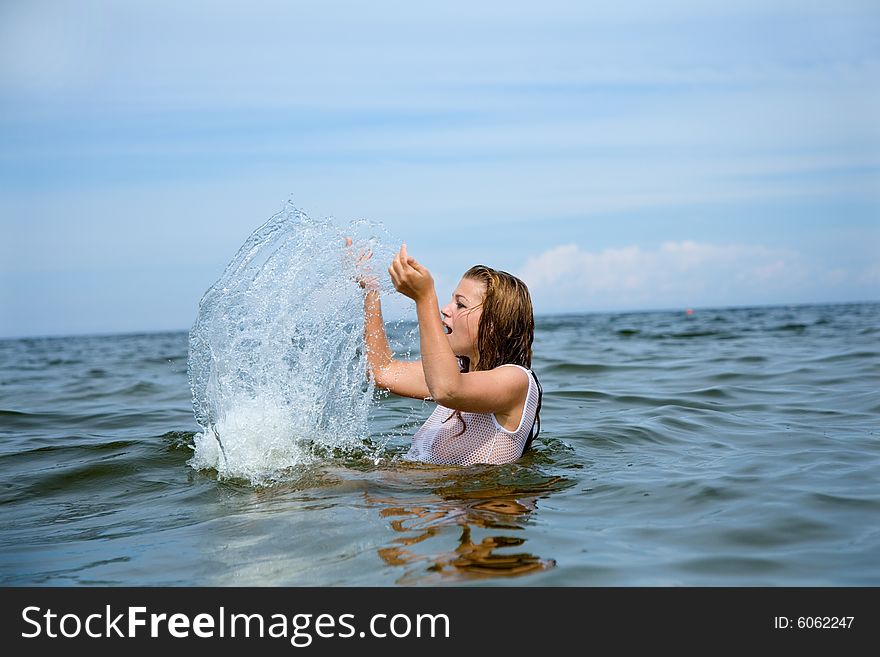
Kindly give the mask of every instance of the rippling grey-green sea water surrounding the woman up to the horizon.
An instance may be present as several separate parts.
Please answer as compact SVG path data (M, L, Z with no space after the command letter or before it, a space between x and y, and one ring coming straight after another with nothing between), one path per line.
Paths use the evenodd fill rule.
M388 326L410 357L414 326ZM217 441L187 332L0 340L0 583L880 585L880 304L538 316L534 354L542 431L516 463L398 458L431 404L352 384L356 429L315 398L233 476L192 467ZM271 412L219 396L230 451L237 400Z

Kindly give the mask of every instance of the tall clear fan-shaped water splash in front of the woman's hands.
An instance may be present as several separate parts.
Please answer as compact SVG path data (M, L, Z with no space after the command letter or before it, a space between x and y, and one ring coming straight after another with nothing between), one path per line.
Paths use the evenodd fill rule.
M355 257L373 253L367 266L389 292L380 272L393 243L379 224L343 230L290 203L248 238L205 293L190 331L190 387L203 429L193 468L267 484L316 453L363 449L373 389Z

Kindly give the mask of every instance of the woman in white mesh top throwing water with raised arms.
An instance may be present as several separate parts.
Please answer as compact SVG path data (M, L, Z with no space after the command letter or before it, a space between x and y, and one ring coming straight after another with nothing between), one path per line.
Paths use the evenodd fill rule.
M362 279L370 376L379 388L438 404L413 436L409 456L450 465L518 459L539 431L542 395L529 369L535 322L528 288L477 265L438 318L434 279L405 244L388 272L397 291L416 302L422 357L393 357L379 292Z

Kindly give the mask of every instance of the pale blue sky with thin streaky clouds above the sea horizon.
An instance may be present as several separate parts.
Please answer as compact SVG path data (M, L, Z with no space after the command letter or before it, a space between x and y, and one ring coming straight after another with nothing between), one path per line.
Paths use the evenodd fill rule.
M876 2L434 4L2 3L0 336L188 328L287 199L441 297L880 299Z

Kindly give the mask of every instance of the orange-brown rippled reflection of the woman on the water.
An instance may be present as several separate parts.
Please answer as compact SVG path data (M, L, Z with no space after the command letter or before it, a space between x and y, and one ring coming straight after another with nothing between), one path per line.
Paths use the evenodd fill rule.
M406 504L365 493L398 534L378 550L386 564L405 569L397 584L518 577L556 566L555 559L522 549L523 530L533 522L538 500L567 488L567 480L533 475L528 482L486 486L490 482L481 485L456 472L436 483L431 496Z

